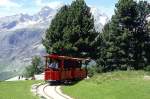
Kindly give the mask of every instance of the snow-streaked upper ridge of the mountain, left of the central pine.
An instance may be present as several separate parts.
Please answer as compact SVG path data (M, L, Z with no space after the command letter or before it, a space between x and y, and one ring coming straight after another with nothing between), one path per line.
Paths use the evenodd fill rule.
M18 14L0 18L0 31L16 30L21 28L49 26L57 10L49 7L42 8L37 14Z

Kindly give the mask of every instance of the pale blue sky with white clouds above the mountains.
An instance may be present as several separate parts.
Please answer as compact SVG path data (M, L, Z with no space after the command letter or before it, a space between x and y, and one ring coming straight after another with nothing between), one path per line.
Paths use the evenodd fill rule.
M71 4L73 0L0 0L0 17L27 13L33 15L42 7L57 8L63 4ZM88 6L99 8L109 17L114 13L118 0L85 0ZM150 1L150 0L147 0Z

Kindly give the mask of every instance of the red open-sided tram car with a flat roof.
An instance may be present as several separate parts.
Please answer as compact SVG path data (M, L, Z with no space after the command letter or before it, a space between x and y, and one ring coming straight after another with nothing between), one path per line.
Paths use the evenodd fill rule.
M44 57L45 81L71 81L87 77L87 67L82 67L87 59L56 54L49 54Z

